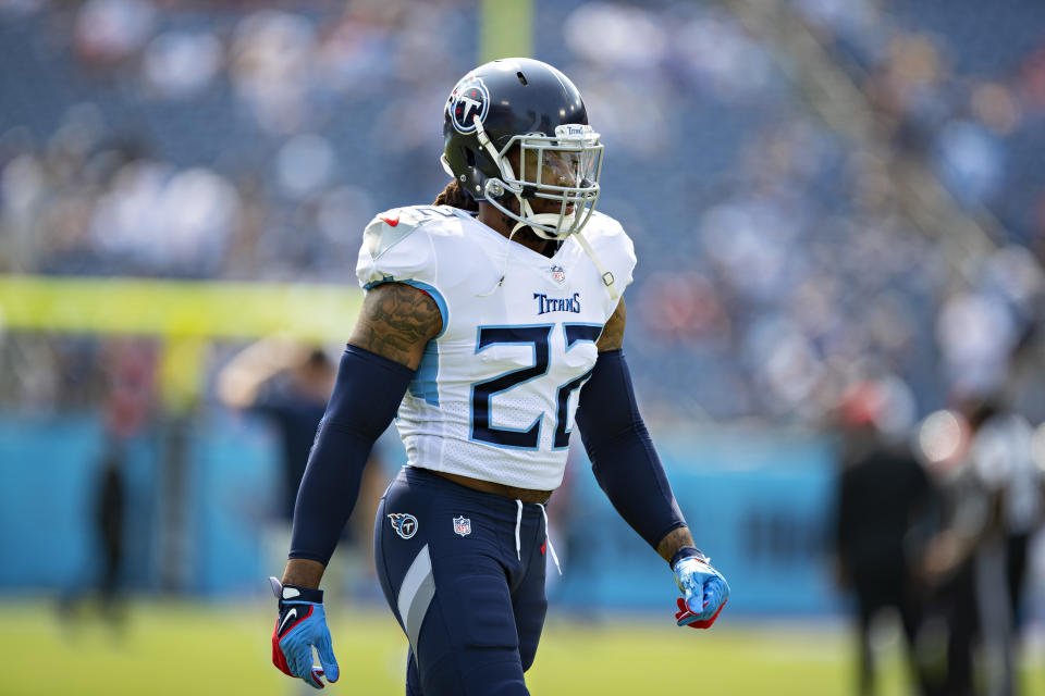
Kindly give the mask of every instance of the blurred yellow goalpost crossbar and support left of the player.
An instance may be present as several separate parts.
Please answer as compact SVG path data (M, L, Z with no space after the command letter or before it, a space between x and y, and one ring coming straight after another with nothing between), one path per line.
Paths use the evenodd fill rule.
M0 328L162 340L159 387L175 411L202 386L207 345L282 334L348 338L362 303L351 285L0 276Z

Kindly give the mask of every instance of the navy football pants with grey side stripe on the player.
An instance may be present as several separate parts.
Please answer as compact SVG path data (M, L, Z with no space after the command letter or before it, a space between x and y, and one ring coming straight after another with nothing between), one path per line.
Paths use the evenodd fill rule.
M529 693L546 538L540 506L518 505L410 467L381 498L373 551L410 642L407 696Z

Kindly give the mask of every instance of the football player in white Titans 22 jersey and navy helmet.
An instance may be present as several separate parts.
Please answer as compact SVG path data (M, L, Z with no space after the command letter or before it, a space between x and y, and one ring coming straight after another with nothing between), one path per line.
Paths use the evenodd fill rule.
M272 659L317 688L340 673L320 579L393 418L408 463L378 508L374 556L409 639L408 694L527 693L545 554L557 566L544 505L575 423L611 502L672 568L678 625L709 627L729 595L636 409L620 298L636 259L595 211L603 146L577 88L536 60L487 63L454 87L443 134L453 181L435 203L364 234L366 299L272 579Z

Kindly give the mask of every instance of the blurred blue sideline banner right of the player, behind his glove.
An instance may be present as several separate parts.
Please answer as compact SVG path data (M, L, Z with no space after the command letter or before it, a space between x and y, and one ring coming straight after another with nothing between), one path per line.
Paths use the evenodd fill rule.
M730 613L823 614L839 608L828 558L835 485L829 439L709 428L654 434L654 442L697 546L729 580ZM587 459L578 460L570 502L552 501L568 522L558 532L567 547L563 582L550 588L551 599L671 610L674 582L666 564L613 510Z

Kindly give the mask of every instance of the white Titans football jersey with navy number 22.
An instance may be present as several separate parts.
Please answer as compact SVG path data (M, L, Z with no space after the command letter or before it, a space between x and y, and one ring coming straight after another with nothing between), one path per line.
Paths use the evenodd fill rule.
M617 288L631 283L634 247L614 219L595 212L581 234ZM396 418L407 463L556 488L595 340L617 304L577 240L549 259L467 211L396 208L367 226L356 274L367 289L425 290L442 313Z

